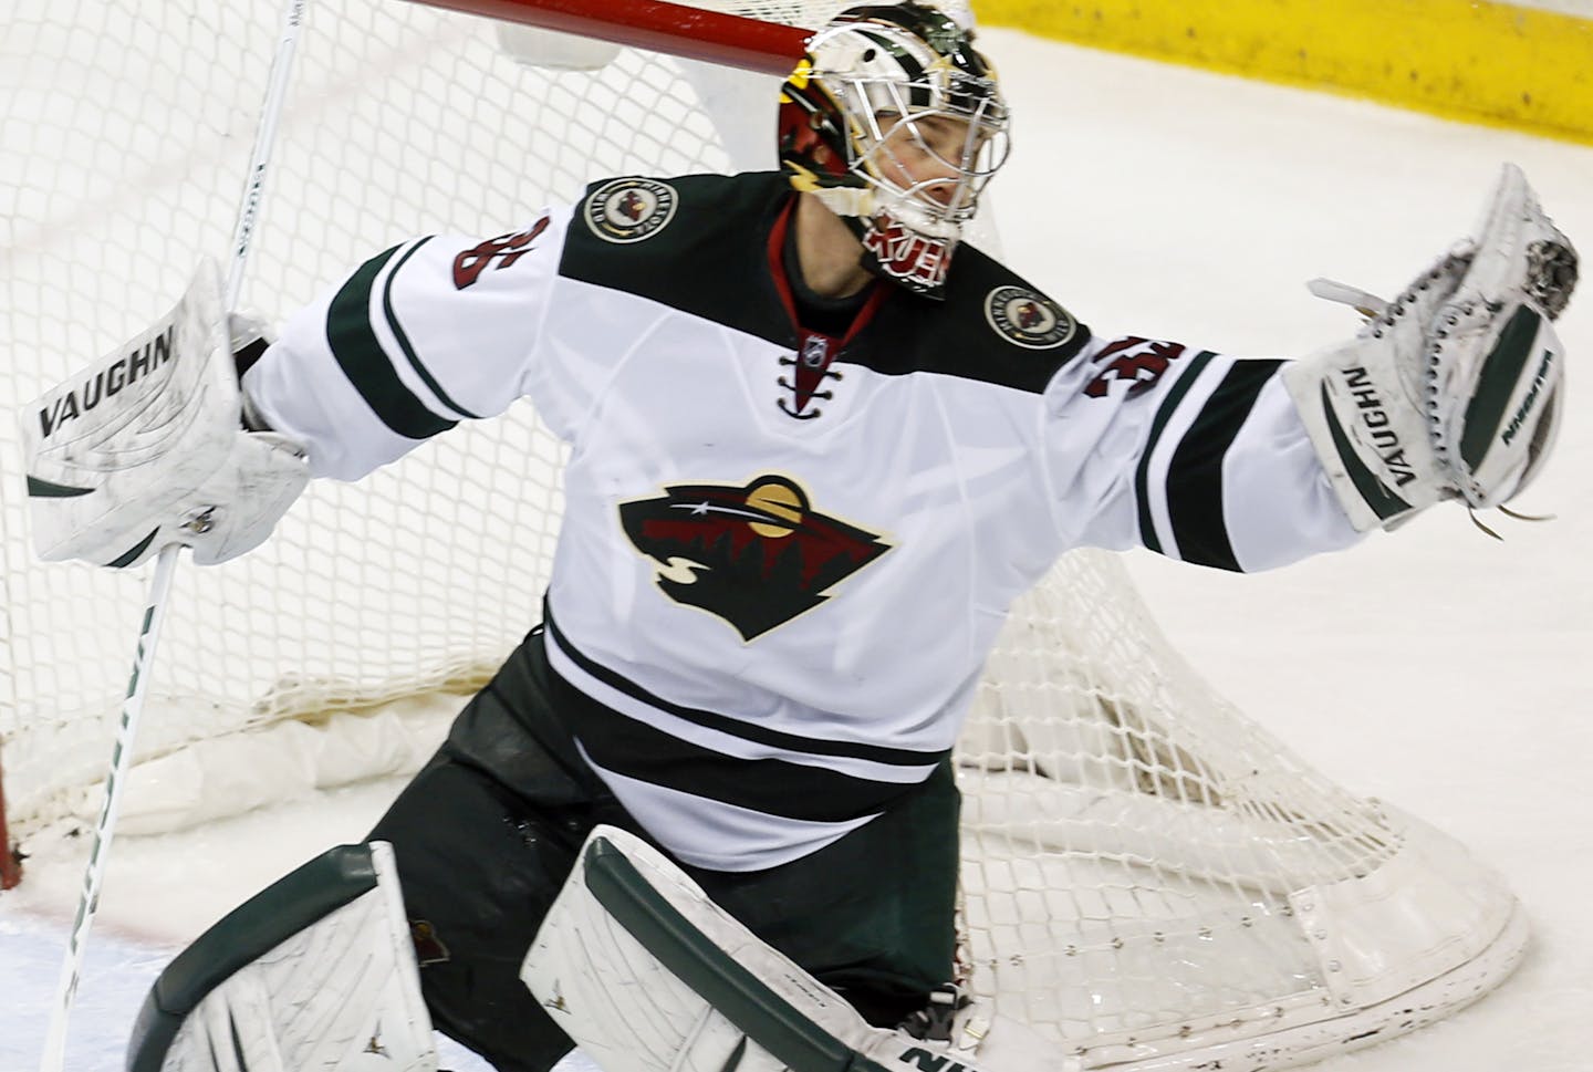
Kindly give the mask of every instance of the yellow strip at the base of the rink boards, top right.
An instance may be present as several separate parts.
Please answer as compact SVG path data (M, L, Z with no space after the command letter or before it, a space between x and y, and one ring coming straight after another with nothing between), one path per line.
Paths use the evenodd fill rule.
M1472 0L975 0L983 24L1593 143L1593 19Z

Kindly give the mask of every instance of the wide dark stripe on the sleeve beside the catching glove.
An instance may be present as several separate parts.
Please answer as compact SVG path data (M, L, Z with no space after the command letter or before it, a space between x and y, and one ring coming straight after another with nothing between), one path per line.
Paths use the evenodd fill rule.
M1241 572L1223 518L1222 460L1279 365L1278 360L1235 362L1172 454L1166 478L1168 518L1185 562Z

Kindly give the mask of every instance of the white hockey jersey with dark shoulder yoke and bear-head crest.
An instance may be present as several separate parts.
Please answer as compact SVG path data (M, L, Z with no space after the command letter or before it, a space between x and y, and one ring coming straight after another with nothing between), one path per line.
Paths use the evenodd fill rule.
M683 862L812 852L949 755L1069 548L1236 570L1352 543L1278 376L1099 338L970 247L945 301L798 322L779 174L594 183L296 314L244 385L355 479L529 397L570 444L546 601L583 755ZM530 624L530 623L527 623Z

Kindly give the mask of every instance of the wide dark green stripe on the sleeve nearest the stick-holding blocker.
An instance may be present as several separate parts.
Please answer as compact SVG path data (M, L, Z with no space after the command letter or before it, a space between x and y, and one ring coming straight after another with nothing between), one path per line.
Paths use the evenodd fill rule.
M382 424L406 440L427 440L459 422L436 416L405 387L370 319L376 277L400 248L395 245L365 261L333 296L327 311L327 344L342 374Z

